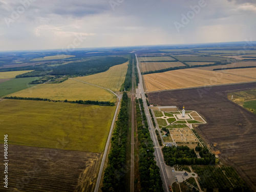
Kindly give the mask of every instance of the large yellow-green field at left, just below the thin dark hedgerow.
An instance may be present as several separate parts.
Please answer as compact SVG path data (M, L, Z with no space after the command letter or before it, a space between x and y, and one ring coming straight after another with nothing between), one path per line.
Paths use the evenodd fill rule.
M65 150L99 153L116 107L5 99L0 109L0 134L9 144L59 148L62 141Z

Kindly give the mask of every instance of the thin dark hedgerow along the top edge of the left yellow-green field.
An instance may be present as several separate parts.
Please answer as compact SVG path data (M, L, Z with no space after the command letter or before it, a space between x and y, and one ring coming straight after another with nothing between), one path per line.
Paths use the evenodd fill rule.
M9 96L4 97L5 99L18 99L18 100L35 100L35 101L53 101L53 102L69 102L69 103L78 103L78 104L91 104L91 105L102 105L102 106L115 106L115 103L110 101L91 101L91 100L76 100L76 101L68 101L67 99L64 101L60 100L51 100L47 98L33 98L33 97L17 97L17 96Z

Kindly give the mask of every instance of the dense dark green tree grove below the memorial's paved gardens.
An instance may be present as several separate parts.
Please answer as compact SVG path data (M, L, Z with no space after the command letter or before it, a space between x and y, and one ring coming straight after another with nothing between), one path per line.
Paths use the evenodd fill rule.
M207 148L200 151L201 158L197 158L194 148L190 150L188 146L164 146L162 148L164 161L167 165L215 165L219 161L214 154L210 154Z

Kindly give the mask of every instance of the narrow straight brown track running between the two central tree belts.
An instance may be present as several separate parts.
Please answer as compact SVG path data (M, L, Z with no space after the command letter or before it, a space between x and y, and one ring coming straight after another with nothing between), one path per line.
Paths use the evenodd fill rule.
M133 79L132 79L132 133L131 133L131 179L130 191L134 192L134 58L133 58Z

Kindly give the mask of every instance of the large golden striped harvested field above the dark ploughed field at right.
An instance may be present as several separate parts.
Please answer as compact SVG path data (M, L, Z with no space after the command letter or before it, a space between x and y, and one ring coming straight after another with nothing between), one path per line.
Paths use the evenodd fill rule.
M253 77L199 69L181 69L164 73L146 74L143 77L147 92L256 81L256 78Z

